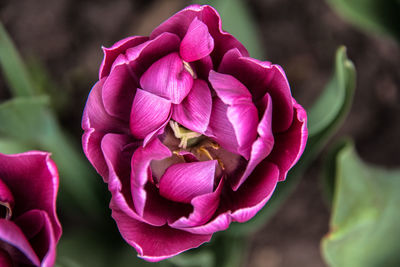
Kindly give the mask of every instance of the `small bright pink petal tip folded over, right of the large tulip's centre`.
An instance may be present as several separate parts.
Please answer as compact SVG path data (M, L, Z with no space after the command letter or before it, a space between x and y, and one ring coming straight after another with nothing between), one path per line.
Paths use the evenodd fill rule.
M211 70L208 79L218 97L225 104L233 105L252 101L249 90L235 77Z

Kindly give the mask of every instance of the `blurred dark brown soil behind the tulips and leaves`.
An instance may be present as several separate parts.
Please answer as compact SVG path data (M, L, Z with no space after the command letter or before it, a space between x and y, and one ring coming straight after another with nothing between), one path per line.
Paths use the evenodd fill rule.
M336 139L351 135L367 162L400 166L400 45L389 37L359 31L324 1L247 3L266 59L283 66L294 96L306 108L329 80L337 47L347 47L357 69L357 89ZM53 90L68 100L59 101L57 110L78 143L86 97L98 79L101 45L147 35L186 4L184 0L0 0L0 20L24 58L39 60L49 72ZM0 99L7 97L0 76ZM319 242L329 230L329 206L319 177L323 156L279 212L249 237L244 266L324 266Z

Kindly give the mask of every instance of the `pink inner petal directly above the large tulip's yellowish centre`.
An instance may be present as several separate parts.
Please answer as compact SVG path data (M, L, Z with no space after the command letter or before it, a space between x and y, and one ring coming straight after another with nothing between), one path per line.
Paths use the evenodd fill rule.
M194 80L193 88L179 105L174 105L172 118L184 127L204 133L210 121L211 92L203 80Z

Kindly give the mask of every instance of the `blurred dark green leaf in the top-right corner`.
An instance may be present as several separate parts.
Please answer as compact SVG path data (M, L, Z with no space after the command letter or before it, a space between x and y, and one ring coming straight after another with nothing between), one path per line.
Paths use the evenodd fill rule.
M391 34L400 41L400 1L327 0L345 19L366 31Z

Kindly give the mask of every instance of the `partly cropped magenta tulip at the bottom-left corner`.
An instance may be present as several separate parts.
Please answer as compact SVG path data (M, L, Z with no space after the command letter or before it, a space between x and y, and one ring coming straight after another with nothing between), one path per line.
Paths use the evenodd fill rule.
M48 153L0 154L0 265L53 266L61 226L57 167Z

